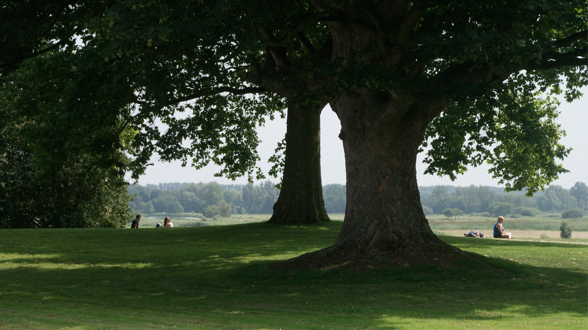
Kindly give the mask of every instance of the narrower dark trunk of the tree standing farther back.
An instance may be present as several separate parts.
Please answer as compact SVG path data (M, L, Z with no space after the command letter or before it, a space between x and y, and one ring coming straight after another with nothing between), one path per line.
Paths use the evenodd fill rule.
M288 105L282 188L268 223L329 221L320 180L320 112L323 106Z

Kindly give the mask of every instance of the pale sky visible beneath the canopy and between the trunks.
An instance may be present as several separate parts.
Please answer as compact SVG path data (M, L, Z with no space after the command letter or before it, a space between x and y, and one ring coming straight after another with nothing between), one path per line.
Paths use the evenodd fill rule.
M561 142L566 147L572 147L573 150L569 157L560 161L564 168L570 170L570 173L564 173L559 179L552 184L560 184L564 188L570 188L576 181L588 183L588 87L582 89L584 96L573 103L562 101L559 110L562 112L557 120L566 130L567 136L563 137ZM563 100L563 97L560 97ZM321 134L321 161L323 185L330 183L345 184L345 157L343 155L343 144L339 140L339 131L341 125L339 119L329 106L323 109L320 116L320 134ZM259 156L262 161L258 164L266 173L272 167L267 160L273 154L276 144L280 142L286 132L286 119L277 118L273 122L266 123L265 127L259 127L258 133L262 143L258 146ZM452 186L469 186L470 184L499 186L497 179L492 179L488 173L489 166L483 166L469 169L465 174L457 176L455 181L449 177L438 177L430 174L423 174L426 164L422 163L424 153L419 154L417 158L417 181L419 186L433 186L436 184L450 184ZM163 163L158 161L154 156L151 160L154 165L148 167L145 174L139 178L139 184L160 182L209 182L218 181L218 183L247 183L246 177L239 178L235 181L224 177L214 177L219 167L209 165L201 170L195 170L192 167L182 167L180 161L172 163ZM128 176L129 177L129 176ZM269 180L277 182L278 179L269 177Z

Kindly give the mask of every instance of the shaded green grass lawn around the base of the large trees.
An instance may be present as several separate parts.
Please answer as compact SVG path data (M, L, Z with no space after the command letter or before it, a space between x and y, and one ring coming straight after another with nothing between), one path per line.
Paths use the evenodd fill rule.
M480 264L280 274L328 225L0 231L0 329L586 329L586 244L442 237Z

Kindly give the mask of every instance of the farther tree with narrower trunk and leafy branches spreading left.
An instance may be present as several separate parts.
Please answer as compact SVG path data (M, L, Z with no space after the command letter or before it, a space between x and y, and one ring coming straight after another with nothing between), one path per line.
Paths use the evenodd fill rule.
M213 161L225 166L218 175L232 179L248 175L252 179L255 162L259 160L255 152L258 144L255 124L263 124L263 116L272 117L273 112L281 110L284 106L282 99L287 99L288 127L283 142L286 147L283 159L272 157L276 166L270 171L275 177L283 171L280 184L282 197L276 203L270 222L317 223L329 220L320 180L319 119L326 103L315 101L307 104L308 100L276 96L264 87L244 85L242 80L235 79L235 73L238 77L242 73L239 66L248 58L243 54L231 55L235 52L235 39L240 38L243 31L237 31L240 36L229 35L220 39L219 33L209 35L206 28L219 28L218 24L213 23L203 29L207 20L206 11L202 11L202 6L191 6L189 2L136 4L126 1L74 1L69 5L48 1L5 6L0 10L0 16L11 19L0 25L0 33L4 32L2 35L6 35L8 41L1 45L0 50L7 54L5 60L10 62L9 68L13 68L23 59L61 46L64 51L51 52L42 61L44 66L51 68L63 65L64 61L73 62L75 67L69 70L85 78L87 68L110 73L106 77L116 80L112 89L117 90L112 98L123 100L130 106L111 104L110 109L102 112L96 112L95 107L88 108L95 114L122 118L125 125L139 132L135 139L136 158L129 166L134 177L145 169L149 156L158 152L162 160L182 159L186 164L191 158L196 168ZM102 16L98 17L98 14ZM24 21L22 18L25 18ZM11 33L15 29L19 33L13 36ZM74 33L85 46L79 48L75 45ZM269 35L266 33L266 36ZM105 58L109 63L100 63ZM30 68L30 62L34 66L39 65L32 60L25 63L24 68L27 64ZM28 75L26 79L36 78L42 82L49 75L54 78L52 81L57 80L64 85L103 90L103 83L93 82L92 77L73 79L63 75L56 77L51 71L36 71L36 75ZM300 77L295 78L290 79L290 84L300 81ZM133 89L131 93L128 87ZM245 96L252 93L265 95ZM38 97L32 97L32 100L39 102ZM76 109L72 116L68 116L72 121L78 121L76 117L83 113L76 103L79 102L65 105ZM242 109L245 111L242 112ZM188 118L177 120L174 115L179 112L192 113ZM62 112L54 117L63 117ZM169 126L168 130L160 132L155 126L154 119L157 117ZM309 122L312 124L306 124ZM69 138L72 142L77 139L79 137ZM109 136L109 139L113 141L112 147L116 148L118 137ZM86 145L95 144L87 137L81 140ZM186 140L191 140L189 145L186 145ZM72 144L79 146L81 143ZM49 149L62 148L41 148ZM108 150L99 150L98 153L108 155ZM262 179L263 173L257 169L255 176Z

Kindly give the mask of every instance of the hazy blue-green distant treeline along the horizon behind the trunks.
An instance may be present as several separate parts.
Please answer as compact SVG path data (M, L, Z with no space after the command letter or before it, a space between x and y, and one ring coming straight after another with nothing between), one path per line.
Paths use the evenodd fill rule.
M142 213L211 213L228 208L233 214L271 214L279 190L272 181L257 184L159 183L145 187L128 187L135 195L131 208ZM570 208L588 209L588 187L577 182L574 187L549 186L533 197L524 192L505 193L504 188L489 186L429 186L419 187L421 203L426 214L440 214L446 208L458 208L464 213L521 214L539 211L564 211ZM328 213L345 213L344 184L323 186L325 209ZM208 208L207 208L208 207ZM212 211L211 211L212 210ZM206 215L206 214L205 214ZM208 216L208 215L207 215Z

